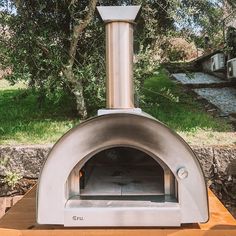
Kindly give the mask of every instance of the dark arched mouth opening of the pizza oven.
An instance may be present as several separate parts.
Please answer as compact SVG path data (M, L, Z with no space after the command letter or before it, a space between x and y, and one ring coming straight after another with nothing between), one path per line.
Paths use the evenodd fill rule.
M178 202L177 181L166 164L133 147L96 153L82 167L74 167L67 183L69 205L74 200L88 205L94 201L121 205Z

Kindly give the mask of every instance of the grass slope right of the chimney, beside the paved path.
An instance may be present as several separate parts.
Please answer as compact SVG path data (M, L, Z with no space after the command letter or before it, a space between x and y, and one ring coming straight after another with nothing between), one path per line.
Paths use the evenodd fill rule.
M165 96L167 90L174 99ZM143 110L177 131L190 144L236 144L233 127L225 119L208 114L204 105L169 79L165 70L159 70L157 75L146 80L143 92L147 104L151 104Z

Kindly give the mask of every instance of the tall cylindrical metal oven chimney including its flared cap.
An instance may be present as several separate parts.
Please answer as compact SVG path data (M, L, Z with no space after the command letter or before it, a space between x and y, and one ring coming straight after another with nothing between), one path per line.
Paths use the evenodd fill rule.
M106 102L108 109L134 108L133 26L140 6L102 6L106 24Z

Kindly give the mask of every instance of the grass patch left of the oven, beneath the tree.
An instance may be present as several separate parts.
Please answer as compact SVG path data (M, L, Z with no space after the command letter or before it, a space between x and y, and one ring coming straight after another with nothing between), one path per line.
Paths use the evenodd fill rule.
M0 144L54 143L79 123L68 97L58 104L46 99L39 107L38 94L24 85L0 81L0 87Z

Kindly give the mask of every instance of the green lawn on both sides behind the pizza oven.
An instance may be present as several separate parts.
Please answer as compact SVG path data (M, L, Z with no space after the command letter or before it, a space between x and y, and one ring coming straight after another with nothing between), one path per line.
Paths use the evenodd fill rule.
M145 81L144 93L147 99L142 109L176 130L190 144L234 144L232 127L207 114L203 105L171 81L164 70ZM179 102L160 93L171 93L172 100L178 97ZM71 98L63 97L57 104L46 99L39 107L37 97L24 84L12 87L0 80L0 144L54 143L79 123Z

